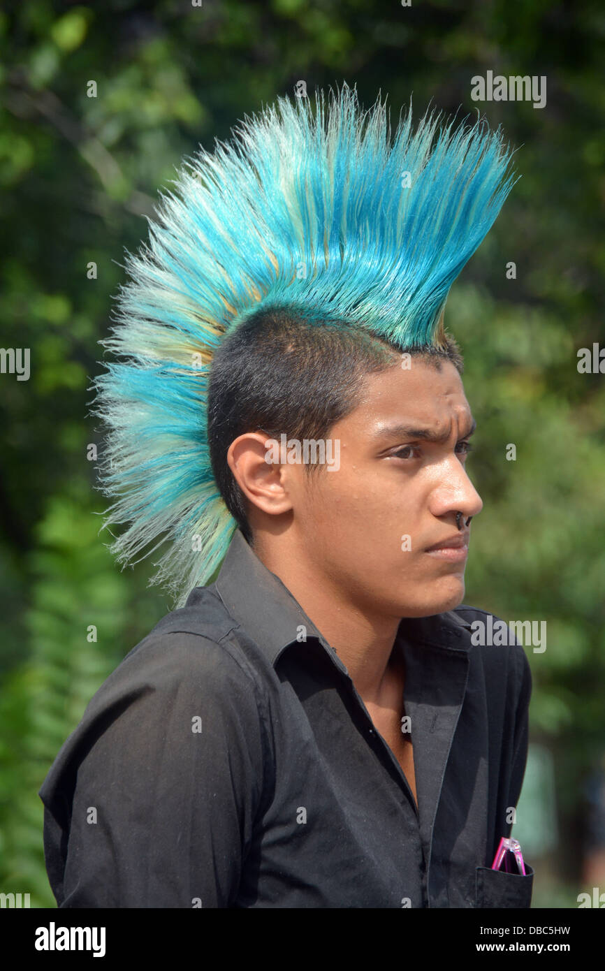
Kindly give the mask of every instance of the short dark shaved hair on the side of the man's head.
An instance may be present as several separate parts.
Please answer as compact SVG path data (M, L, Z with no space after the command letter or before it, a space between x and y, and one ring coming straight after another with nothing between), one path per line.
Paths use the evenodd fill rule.
M443 327L439 337L438 347L399 348L355 321L274 305L223 338L209 373L208 444L218 490L249 543L246 497L227 463L231 442L259 430L278 440L325 438L356 407L365 375L400 366L404 352L438 369L450 360L462 374L454 338ZM308 474L315 468L305 465Z

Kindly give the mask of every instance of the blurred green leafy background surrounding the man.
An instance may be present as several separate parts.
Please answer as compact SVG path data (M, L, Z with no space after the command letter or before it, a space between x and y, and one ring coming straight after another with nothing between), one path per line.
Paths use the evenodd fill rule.
M311 94L356 84L366 107L380 90L391 120L411 97L417 117L479 107L518 148L522 178L446 311L484 500L465 603L547 621L547 650L525 648L532 745L514 829L533 906L577 907L599 873L605 890L605 863L588 870L597 771L604 788L605 375L577 369L580 348L605 346L604 35L601 4L550 0L28 0L0 14L2 346L31 352L29 381L0 375L1 890L54 905L38 788L91 695L172 606L147 586L149 561L113 561L86 457L103 448L90 381L124 251L183 156L299 80ZM473 102L487 71L546 76L546 107Z

